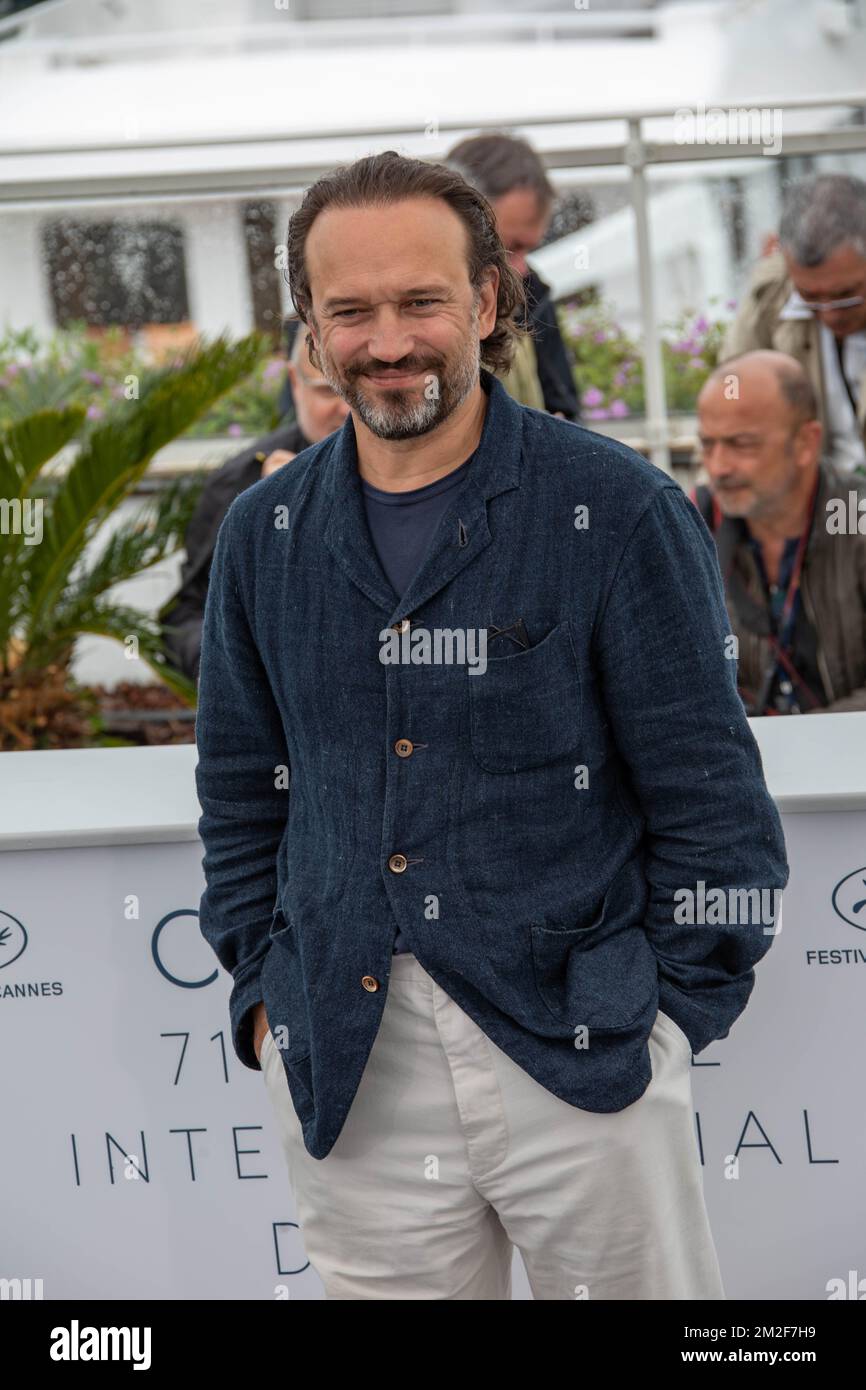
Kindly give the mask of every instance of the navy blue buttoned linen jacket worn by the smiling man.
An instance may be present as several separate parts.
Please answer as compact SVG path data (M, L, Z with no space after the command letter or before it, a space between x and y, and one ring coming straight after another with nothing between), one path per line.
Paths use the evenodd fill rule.
M234 977L235 1051L257 1069L264 1001L316 1158L364 1070L398 926L530 1076L620 1111L651 1081L657 1009L692 1052L726 1037L773 941L758 912L684 922L681 891L771 898L788 878L703 520L637 453L481 379L468 480L400 599L352 416L236 498L217 541L200 924ZM523 619L530 645L499 638L484 674L385 664L406 619L407 642Z

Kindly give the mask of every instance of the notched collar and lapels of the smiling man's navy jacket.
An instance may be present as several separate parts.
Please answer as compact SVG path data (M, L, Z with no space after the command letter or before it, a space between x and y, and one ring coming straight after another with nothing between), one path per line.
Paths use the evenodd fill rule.
M421 569L399 600L370 537L352 416L346 417L325 463L327 485L334 493L325 545L352 584L389 614L388 623L399 621L431 599L489 545L488 498L520 486L521 407L485 368L481 385L488 393L488 407L466 484L441 518ZM455 460L455 466L460 461Z

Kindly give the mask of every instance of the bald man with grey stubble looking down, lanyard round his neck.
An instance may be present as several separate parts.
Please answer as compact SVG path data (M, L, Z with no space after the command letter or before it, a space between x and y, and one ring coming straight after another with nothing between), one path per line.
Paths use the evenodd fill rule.
M708 484L692 502L716 541L748 713L866 709L866 491L822 456L806 371L769 349L733 357L698 423Z

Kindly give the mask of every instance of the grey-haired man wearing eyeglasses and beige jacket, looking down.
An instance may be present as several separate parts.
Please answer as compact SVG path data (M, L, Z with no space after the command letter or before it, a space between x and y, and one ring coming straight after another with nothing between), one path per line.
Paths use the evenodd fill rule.
M723 360L773 348L805 368L826 453L866 474L866 183L819 174L785 196L778 249L758 265Z

